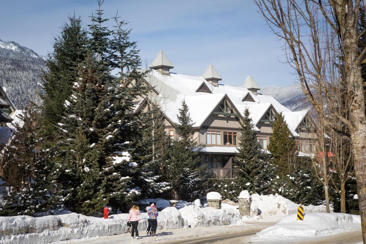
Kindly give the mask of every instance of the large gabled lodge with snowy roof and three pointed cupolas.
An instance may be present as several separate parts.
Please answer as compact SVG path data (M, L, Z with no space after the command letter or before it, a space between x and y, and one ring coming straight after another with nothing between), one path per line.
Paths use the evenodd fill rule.
M202 145L201 164L207 163L208 173L219 178L235 176L233 156L237 151L239 121L246 108L253 119L257 140L265 152L273 132L273 121L280 112L284 114L299 149L303 153L311 153L314 149L308 111L292 112L272 96L259 93L260 87L250 75L243 86L232 86L225 85L225 81L219 83L223 79L211 64L202 76L173 73L173 67L160 50L150 65L150 72L143 78L151 91L146 97L136 99L136 111L146 110L149 103L158 104L164 114L168 135L179 140L175 124L184 99L194 121L193 138ZM135 81L124 82L127 87L134 84Z

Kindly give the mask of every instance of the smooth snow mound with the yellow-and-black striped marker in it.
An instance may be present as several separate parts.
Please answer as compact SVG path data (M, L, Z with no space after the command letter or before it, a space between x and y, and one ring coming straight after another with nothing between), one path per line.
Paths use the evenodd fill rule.
M296 239L326 236L347 230L361 230L360 215L312 213L305 214L304 221L296 221L296 215L292 214L257 233L253 240L255 242L276 242L276 240L292 242Z

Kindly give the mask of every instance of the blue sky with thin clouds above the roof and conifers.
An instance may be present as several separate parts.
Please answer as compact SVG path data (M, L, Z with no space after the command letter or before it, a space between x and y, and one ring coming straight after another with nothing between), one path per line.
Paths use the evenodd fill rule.
M1 4L0 39L15 41L46 55L53 35L68 14L89 23L96 0L16 0ZM252 75L259 86L285 86L295 76L285 62L283 42L276 40L250 0L105 0L105 17L119 16L133 28L143 66L160 49L172 72L202 75L209 64L223 84L242 85ZM112 22L107 25L112 26Z

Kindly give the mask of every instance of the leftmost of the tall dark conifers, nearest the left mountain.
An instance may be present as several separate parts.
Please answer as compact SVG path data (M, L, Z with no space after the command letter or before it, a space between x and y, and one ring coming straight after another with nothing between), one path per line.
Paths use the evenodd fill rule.
M72 86L79 77L80 64L87 55L87 31L82 27L80 17L73 15L68 20L53 41L53 51L48 54L46 64L48 71L42 75L41 134L47 141L54 138L57 123L65 112L64 101L71 95Z

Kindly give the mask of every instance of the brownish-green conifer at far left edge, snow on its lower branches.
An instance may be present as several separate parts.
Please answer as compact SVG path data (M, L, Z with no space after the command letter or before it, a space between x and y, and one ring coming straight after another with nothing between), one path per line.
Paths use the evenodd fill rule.
M23 126L16 126L10 147L4 148L2 177L13 186L0 215L34 215L54 207L57 198L51 192L57 175L49 151L40 147L39 114L27 106L20 115Z

